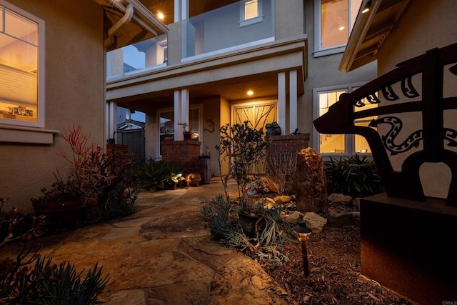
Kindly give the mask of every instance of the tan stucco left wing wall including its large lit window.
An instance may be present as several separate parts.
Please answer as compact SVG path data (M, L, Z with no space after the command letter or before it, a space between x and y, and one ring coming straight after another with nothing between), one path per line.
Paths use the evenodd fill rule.
M106 143L106 50L134 42L114 31L121 19L102 1L0 1L0 196L31 210L30 198L68 166L62 132L73 124ZM139 36L144 14L124 22ZM154 26L150 26L151 28ZM111 39L114 43L111 43ZM106 40L108 39L108 40ZM106 45L105 45L106 42Z

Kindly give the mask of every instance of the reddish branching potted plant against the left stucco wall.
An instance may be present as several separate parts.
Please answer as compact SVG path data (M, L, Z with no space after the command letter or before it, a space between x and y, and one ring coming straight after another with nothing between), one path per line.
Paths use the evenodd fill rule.
M69 167L64 174L56 170L51 189L41 189L43 195L31 199L34 209L49 218L74 222L87 206L97 206L96 213L100 214L119 207L126 189L133 186L134 155L104 153L100 146L89 144L90 136L81 134L81 126L72 126L63 137L70 154L60 151L59 155L69 161Z

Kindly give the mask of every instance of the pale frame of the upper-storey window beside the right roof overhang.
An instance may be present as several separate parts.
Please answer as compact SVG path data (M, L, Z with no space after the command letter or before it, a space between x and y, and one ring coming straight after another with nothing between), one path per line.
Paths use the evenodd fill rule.
M351 22L351 16L352 16L351 1L353 1L353 0L346 0L346 1L348 1L348 26L350 27L350 29L348 31L348 39L349 39L349 36L351 36L351 31L353 28L353 22ZM313 52L313 55L314 55L314 57L320 57L320 56L327 56L327 55L331 55L331 54L343 53L344 50L346 49L347 42L345 44L338 44L336 46L330 46L328 48L321 48L321 41L322 41L321 4L322 4L321 0L314 0L314 52ZM355 15L355 16L357 16L357 15Z

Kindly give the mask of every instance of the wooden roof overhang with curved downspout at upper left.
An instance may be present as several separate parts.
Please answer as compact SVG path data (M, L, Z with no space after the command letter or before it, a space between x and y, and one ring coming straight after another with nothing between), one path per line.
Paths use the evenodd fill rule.
M104 8L106 51L160 36L169 31L140 0L94 1ZM129 13L131 16L127 16Z

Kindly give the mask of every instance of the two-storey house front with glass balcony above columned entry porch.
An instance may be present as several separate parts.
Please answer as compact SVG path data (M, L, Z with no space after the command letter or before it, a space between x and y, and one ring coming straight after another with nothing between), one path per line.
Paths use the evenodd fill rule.
M183 141L185 127L216 156L219 128L245 120L276 121L283 136L298 129L324 155L369 153L363 139L312 124L338 94L376 77L376 63L338 71L361 0L143 2L169 31L107 54L106 101L109 134L117 106L146 113L146 159L162 159L165 134ZM211 171L219 175L216 158Z

